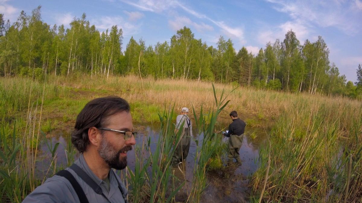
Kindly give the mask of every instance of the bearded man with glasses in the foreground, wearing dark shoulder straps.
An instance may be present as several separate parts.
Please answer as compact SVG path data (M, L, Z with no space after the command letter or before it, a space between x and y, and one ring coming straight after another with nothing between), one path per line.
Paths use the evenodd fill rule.
M130 105L117 96L88 102L71 134L80 152L75 163L48 178L23 202L120 202L127 190L111 168L127 166L127 151L135 145Z

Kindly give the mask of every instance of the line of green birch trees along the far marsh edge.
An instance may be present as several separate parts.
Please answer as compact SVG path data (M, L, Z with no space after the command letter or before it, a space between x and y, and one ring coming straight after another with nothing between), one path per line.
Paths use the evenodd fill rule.
M170 42L146 46L131 37L122 51L123 32L117 25L100 32L83 14L69 28L42 21L41 6L31 15L24 11L10 23L0 14L0 75L42 77L46 74L127 75L234 83L270 90L316 92L328 95L362 95L362 71L353 84L329 61L329 49L321 36L301 44L289 30L285 39L268 42L253 55L245 47L235 50L231 39L220 36L217 46L196 39L188 27Z

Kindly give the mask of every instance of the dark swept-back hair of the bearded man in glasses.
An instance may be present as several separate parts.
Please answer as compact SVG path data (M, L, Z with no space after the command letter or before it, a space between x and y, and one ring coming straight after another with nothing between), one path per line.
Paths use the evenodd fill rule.
M71 134L73 145L82 153L89 144L88 129L106 125L106 118L120 112L130 112L128 102L118 96L107 96L88 102L77 116Z

